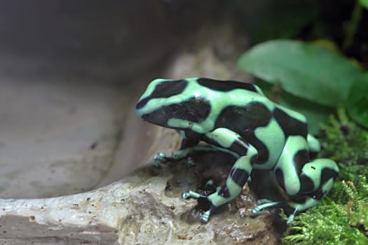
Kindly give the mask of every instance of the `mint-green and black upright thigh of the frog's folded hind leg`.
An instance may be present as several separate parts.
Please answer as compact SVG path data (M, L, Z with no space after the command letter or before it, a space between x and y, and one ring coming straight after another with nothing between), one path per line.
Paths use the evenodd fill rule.
M301 169L307 162L309 162L309 152L306 139L301 136L289 136L274 168L279 185L288 195L300 193Z

